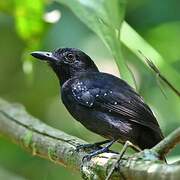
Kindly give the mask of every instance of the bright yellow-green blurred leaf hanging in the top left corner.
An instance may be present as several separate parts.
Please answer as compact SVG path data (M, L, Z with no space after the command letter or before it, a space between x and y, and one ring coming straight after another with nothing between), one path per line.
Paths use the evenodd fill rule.
M43 32L43 2L15 0L15 20L18 34L24 40L37 38Z

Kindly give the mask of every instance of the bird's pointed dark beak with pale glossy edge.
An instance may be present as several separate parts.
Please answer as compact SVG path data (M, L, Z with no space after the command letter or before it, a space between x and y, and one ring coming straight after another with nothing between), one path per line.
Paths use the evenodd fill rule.
M54 62L58 60L51 52L34 51L31 53L31 55L37 59L48 62Z

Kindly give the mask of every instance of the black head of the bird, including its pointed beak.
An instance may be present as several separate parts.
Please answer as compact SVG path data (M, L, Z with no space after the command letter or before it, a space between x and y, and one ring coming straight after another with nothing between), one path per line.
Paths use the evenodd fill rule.
M61 84L79 73L98 71L92 59L75 48L59 48L53 52L35 51L31 55L48 62Z

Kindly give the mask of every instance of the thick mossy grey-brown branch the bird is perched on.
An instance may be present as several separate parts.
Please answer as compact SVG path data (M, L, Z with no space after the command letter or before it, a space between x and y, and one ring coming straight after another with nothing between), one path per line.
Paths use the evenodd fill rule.
M9 137L32 155L80 171L85 179L105 179L118 158L117 154L109 152L82 163L87 152L77 152L76 147L87 142L44 124L29 115L21 105L10 104L1 99L0 134ZM145 150L133 157L123 157L112 179L121 177L133 180L174 180L180 177L180 164L166 165L158 160L155 151Z

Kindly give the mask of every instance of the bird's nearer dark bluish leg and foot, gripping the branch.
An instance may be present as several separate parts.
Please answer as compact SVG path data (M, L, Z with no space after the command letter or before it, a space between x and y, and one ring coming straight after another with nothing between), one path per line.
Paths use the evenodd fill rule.
M96 156L98 154L101 154L101 153L104 153L104 152L107 152L109 150L109 148L112 146L112 144L114 142L116 142L117 139L113 139L113 140L109 140L109 142L101 149L99 150L96 150L96 151L93 151L91 152L90 154L86 155L83 157L83 161L86 159L86 160L90 160L93 156Z

